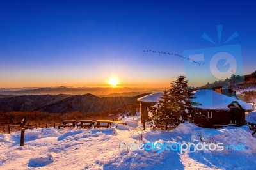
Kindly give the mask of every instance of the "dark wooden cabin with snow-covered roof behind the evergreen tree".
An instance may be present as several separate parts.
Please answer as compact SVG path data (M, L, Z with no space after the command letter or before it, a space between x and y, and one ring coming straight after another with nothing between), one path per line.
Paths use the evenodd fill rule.
M228 97L213 90L200 89L194 91L196 97L193 101L200 103L197 107L203 109L205 118L195 118L195 124L201 127L221 127L224 125L241 126L246 123L245 112L253 111L252 105ZM153 93L145 97L138 98L140 102L141 122L143 118L149 120L148 112L150 107L161 100L163 93Z

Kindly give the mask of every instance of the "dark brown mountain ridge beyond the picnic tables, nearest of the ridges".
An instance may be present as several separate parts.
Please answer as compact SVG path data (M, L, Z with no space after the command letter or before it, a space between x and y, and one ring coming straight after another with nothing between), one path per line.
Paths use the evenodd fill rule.
M136 104L134 97L97 97L90 93L85 95L22 95L17 97L0 98L0 111L41 111L50 113L68 112L104 112Z

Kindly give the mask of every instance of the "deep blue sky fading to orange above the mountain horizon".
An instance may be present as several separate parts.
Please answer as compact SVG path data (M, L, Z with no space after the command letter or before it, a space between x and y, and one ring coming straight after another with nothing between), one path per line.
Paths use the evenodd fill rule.
M120 86L167 88L179 75L200 86L218 80L210 76L209 62L223 45L231 45L224 50L239 58L238 74L256 70L253 1L0 3L0 88L108 86L111 77ZM234 32L238 36L223 44ZM212 56L205 53L200 68L186 60L189 52Z

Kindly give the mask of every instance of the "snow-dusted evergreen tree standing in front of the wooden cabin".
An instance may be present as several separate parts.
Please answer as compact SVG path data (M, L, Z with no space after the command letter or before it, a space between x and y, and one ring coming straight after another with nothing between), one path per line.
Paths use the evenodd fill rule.
M188 81L184 76L178 77L171 83L171 88L164 91L161 100L152 108L153 120L158 128L164 125L177 127L184 121L193 122L193 118L200 114L198 105L191 100L193 93L188 87Z

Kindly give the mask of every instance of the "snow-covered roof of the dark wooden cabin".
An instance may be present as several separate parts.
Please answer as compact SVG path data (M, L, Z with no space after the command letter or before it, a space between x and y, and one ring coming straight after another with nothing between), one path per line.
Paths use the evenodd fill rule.
M200 89L198 91L194 91L193 93L196 97L193 99L193 101L202 104L198 105L198 107L202 109L230 110L228 105L232 104L232 102L238 102L238 104L241 105L245 111L252 111L252 105L236 98L222 95L221 93L217 93L213 90ZM161 95L163 95L163 92L152 93L145 97L138 98L138 101L156 103L158 100L161 100ZM236 106L236 103L234 105Z

